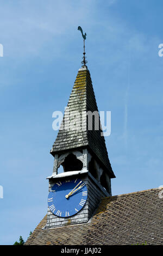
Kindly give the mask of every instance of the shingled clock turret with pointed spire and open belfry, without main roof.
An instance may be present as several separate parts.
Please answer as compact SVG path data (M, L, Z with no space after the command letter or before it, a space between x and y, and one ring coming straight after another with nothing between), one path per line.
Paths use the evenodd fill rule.
M45 228L88 222L101 198L111 196L110 180L115 175L101 130L85 51L51 154L54 167L47 178ZM61 166L62 173L58 173Z

